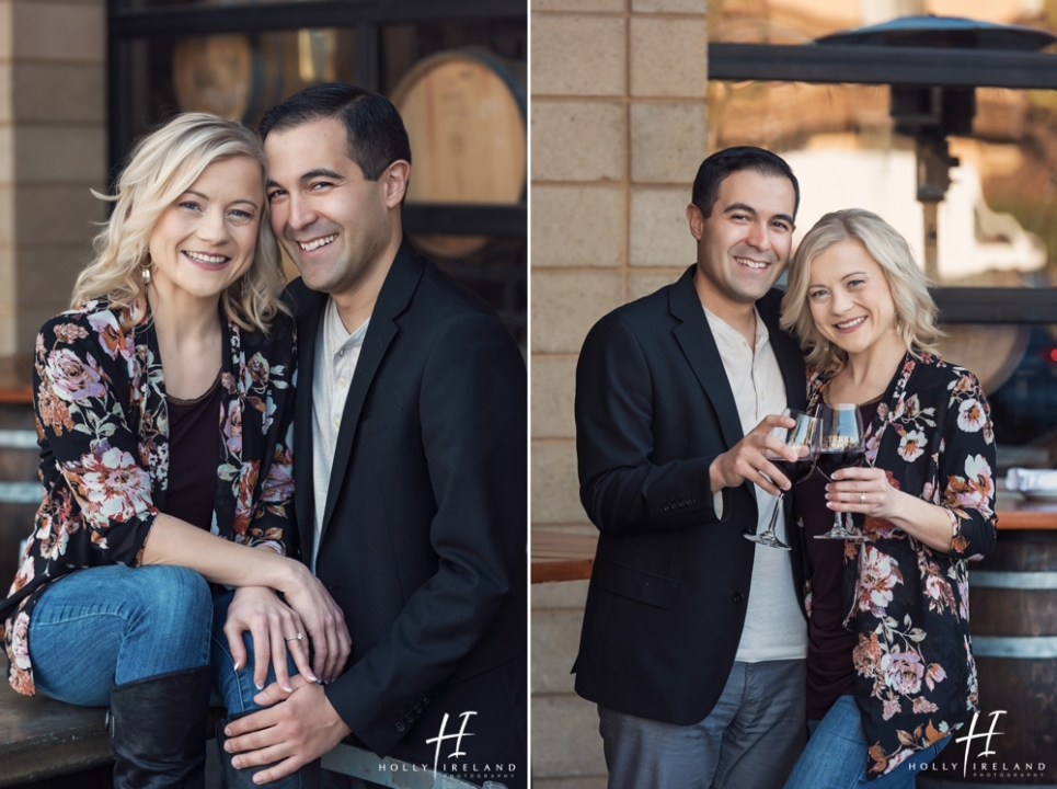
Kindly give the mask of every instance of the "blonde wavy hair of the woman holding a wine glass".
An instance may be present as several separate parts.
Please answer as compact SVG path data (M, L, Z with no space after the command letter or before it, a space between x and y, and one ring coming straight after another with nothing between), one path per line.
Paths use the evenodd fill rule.
M921 353L937 353L937 343L944 334L937 327L938 310L929 294L929 282L915 262L910 244L876 214L848 208L815 222L789 265L781 325L800 340L808 367L836 373L848 361L848 354L815 327L807 305L812 261L841 241L859 241L884 271L895 302L896 331L910 353L916 358Z

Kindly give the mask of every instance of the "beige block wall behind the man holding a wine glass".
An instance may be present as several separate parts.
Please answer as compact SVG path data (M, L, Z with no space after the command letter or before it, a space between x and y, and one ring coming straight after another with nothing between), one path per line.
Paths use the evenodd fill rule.
M574 373L601 316L693 262L683 211L706 153L705 0L532 0L532 521L579 504ZM594 706L573 693L586 582L532 588L532 774L600 789Z

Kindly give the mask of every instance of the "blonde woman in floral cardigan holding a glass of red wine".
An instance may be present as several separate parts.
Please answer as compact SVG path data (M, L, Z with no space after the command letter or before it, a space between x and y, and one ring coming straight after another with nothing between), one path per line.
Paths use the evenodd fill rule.
M854 403L866 464L796 489L811 584L811 739L786 789L912 787L976 710L966 560L995 546L995 436L940 332L907 242L865 210L827 214L789 270L782 325L808 409ZM814 539L834 512L865 539Z

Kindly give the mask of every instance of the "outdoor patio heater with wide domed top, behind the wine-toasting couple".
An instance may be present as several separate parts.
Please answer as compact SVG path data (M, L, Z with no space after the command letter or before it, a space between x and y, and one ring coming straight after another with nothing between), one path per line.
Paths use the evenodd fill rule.
M904 16L884 24L834 33L815 41L826 47L921 47L935 49L1038 50L1057 36L1020 25L956 16ZM897 134L912 137L917 155L918 199L924 211L924 273L939 284L938 206L951 185L947 137L968 135L976 115L975 87L892 84L889 114Z

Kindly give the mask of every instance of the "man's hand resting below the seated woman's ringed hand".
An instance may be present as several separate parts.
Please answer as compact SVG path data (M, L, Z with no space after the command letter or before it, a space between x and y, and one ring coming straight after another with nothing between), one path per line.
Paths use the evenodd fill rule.
M231 759L232 767L271 765L253 775L254 784L268 784L296 773L352 733L322 685L301 676L290 683L294 693L278 683L268 685L253 699L268 709L231 721L223 730L229 737L223 750L239 754Z

